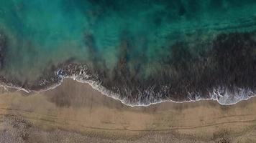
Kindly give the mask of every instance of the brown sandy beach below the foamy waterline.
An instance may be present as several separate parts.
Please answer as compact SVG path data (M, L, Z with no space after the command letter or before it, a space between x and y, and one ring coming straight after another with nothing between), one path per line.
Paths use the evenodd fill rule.
M0 142L256 142L255 98L132 108L73 79L47 92L0 93Z

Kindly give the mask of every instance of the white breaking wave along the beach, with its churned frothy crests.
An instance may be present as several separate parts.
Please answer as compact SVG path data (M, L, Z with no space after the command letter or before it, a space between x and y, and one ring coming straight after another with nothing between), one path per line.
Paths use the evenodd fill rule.
M70 64L68 66L74 67L73 64ZM81 68L82 67L82 68ZM79 70L79 71L78 71ZM214 100L218 102L221 105L232 105L237 104L238 102L248 100L252 97L255 97L256 94L251 89L243 89L239 87L234 87L233 89L229 89L226 87L217 87L212 90L209 90L209 94L201 95L196 93L190 93L187 92L187 99L184 101L175 101L173 99L159 99L155 98L154 91L152 91L153 87L149 87L147 89L147 93L150 94L150 97L147 98L147 101L140 101L137 100L137 102L131 102L128 98L125 96L121 96L120 94L117 94L115 92L112 92L109 89L106 89L106 87L101 85L101 81L96 81L91 79L91 75L88 74L88 69L86 69L86 66L75 66L75 70L70 70L70 74L63 74L63 69L58 69L55 71L55 76L58 77L58 82L55 84L47 85L44 89L39 90L30 90L25 89L23 87L17 86L12 83L4 83L1 82L1 87L4 87L4 89L17 89L17 91L24 91L27 93L33 93L33 92L45 92L47 90L55 89L56 87L60 86L65 79L73 79L76 82L80 83L86 83L89 84L93 89L96 89L97 91L101 92L101 94L104 94L107 97L111 97L112 99L119 100L122 102L122 104L125 104L129 107L148 107L152 104L158 104L162 102L174 102L174 103L185 103L185 102L198 102L201 100ZM41 85L47 83L47 79L41 80ZM139 92L143 96L142 92ZM193 94L193 95L192 95ZM194 95L196 94L196 95Z

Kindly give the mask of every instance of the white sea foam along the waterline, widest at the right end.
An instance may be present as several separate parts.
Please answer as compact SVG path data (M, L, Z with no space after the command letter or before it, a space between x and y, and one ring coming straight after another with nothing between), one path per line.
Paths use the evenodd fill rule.
M46 92L47 90L55 89L56 87L60 86L63 80L65 79L73 79L76 82L89 84L93 89L96 89L97 91L101 92L101 94L104 94L106 97L119 100L120 102L122 102L122 104L125 104L129 107L148 107L152 104L160 104L163 102L186 103L186 102L198 102L202 100L206 100L206 101L214 100L221 105L232 105L256 96L255 92L253 92L251 89L242 89L242 88L236 87L234 90L230 90L225 87L218 87L218 88L214 88L213 91L209 91L209 97L206 97L206 98L202 98L200 94L197 94L196 98L192 99L191 93L188 92L188 95L187 95L188 100L184 100L181 102L180 101L177 102L167 98L167 99L150 99L150 101L153 101L153 102L145 104L145 102L141 102L140 100L138 100L137 102L130 102L129 99L125 97L122 98L120 94L114 93L111 90L106 89L104 86L101 85L101 82L90 80L89 77L91 77L91 75L89 75L87 72L84 72L86 71L86 69L81 69L81 71L83 72L80 72L79 74L72 74L68 76L60 75L58 73L60 72L60 70L61 69L58 69L58 71L55 72L55 75L61 78L60 82L52 84L50 87L47 87L45 89L40 89L38 91L29 90L29 89L24 89L22 87L18 87L14 84L6 84L4 82L1 82L1 87L4 87L4 89L6 90L17 89L17 91L24 91L27 93L33 93L33 92L39 93L39 92ZM150 89L148 89L147 92L152 93ZM140 94L142 93L140 92ZM154 95L151 95L151 98L154 98Z

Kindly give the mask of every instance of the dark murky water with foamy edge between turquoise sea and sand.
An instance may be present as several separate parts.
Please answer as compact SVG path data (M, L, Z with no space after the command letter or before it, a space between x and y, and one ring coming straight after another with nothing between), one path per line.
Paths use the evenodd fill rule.
M205 51L208 54L204 54L202 57L194 55L194 58L192 58L191 51L186 49L188 46L187 42L177 42L170 47L169 54L172 53L171 51L174 52L173 61L166 61L163 67L159 67L161 73L159 77L157 74L150 74L150 77L145 78L140 75L142 74L140 72L134 72L134 77L130 77L130 71L127 69L128 64L125 59L128 55L127 44L129 42L124 41L124 47L122 47L124 48L122 50L124 53L120 53L122 57L120 57L113 71L107 69L104 64L101 67L101 64L89 65L83 62L80 63L75 59L68 59L44 69L32 81L27 81L27 79L19 80L15 76L4 77L4 75L1 75L0 81L4 87L23 90L29 93L55 89L60 86L63 79L71 78L77 82L91 84L91 87L99 90L107 97L117 99L130 107L147 107L162 102L184 103L201 100L215 100L222 105L236 104L242 100L255 97L254 77L256 76L253 70L255 63L253 61L253 45L256 45L256 42L253 36L255 36L255 31L219 34L212 41L205 39L207 41L205 44L212 42L212 49ZM242 39L241 45L237 39ZM234 41L236 42L234 43ZM250 43L250 46L247 45L248 43ZM229 45L229 49L225 49L226 45ZM180 47L183 48L180 49ZM240 53L243 49L252 55L241 55ZM186 62L184 61L186 64L183 63L182 57L181 59L178 56L175 58L175 55L180 55L180 52L183 53L183 50L185 50L186 54L190 55L189 57L194 59L192 64L189 62L189 60L192 60L191 58L188 58ZM223 58L227 51L234 51L232 52L234 55ZM214 55L219 56L216 57ZM235 56L239 58L237 59ZM247 60L244 60L244 63L239 59ZM227 65L222 65L221 63L223 62ZM157 66L157 64L159 63L153 63L151 66ZM184 67L179 68L180 66ZM193 69L193 66L198 68ZM229 68L229 66L232 66L232 68ZM163 68L165 67L168 70L164 70ZM232 69L237 69L237 71ZM168 73L169 71L170 73ZM222 71L225 71L224 74L221 74ZM250 75L240 71L247 71ZM183 76L186 78L183 78Z

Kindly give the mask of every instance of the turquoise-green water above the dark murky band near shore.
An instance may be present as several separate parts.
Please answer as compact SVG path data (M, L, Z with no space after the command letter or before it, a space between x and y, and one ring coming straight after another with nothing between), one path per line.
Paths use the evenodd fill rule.
M211 50L219 34L255 28L252 0L0 1L0 32L6 41L1 75L32 84L52 65L71 60L104 72L108 84L116 82L120 71L122 84L130 78L143 81L137 82L140 87L154 78L165 79L157 76L175 59L189 62L186 50L197 57ZM188 46L173 54L178 42ZM175 75L172 71L170 80Z

